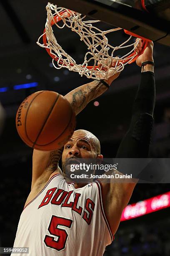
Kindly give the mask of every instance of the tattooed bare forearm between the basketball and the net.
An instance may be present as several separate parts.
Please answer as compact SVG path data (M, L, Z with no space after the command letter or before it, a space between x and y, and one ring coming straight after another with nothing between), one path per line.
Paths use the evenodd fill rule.
M84 84L73 91L72 94L72 108L76 115L80 113L86 105L95 98L102 95L107 90L107 87L100 81L93 81L89 84Z

